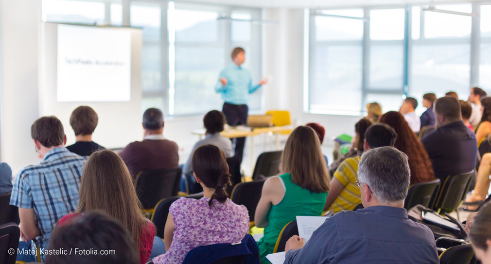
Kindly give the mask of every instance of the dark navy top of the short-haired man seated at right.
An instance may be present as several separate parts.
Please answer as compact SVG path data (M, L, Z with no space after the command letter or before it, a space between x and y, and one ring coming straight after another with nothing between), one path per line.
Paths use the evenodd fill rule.
M435 176L442 184L447 176L468 172L476 167L476 134L462 120L438 127L421 143L430 156Z

